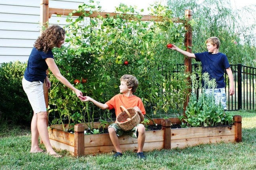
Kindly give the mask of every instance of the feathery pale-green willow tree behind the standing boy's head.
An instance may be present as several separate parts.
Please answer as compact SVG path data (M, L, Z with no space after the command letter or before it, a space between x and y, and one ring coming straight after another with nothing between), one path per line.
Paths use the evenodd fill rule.
M183 15L184 9L193 11L193 53L206 51L206 39L218 37L219 50L227 55L231 64L255 67L255 5L235 10L230 1L223 0L168 0L167 4L176 15Z

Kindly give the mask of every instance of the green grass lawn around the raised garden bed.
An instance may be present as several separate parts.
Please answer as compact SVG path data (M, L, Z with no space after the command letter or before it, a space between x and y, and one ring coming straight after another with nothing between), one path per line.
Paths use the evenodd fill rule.
M1 170L255 170L256 112L236 111L242 116L241 143L204 144L185 149L145 152L139 160L133 152L119 159L113 153L63 158L30 154L30 130L2 124L0 132ZM44 147L42 145L42 147Z

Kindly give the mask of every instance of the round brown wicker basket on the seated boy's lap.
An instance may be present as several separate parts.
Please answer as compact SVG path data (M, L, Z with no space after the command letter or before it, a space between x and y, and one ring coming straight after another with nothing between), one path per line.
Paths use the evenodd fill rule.
M139 122L141 118L139 117L138 112L135 112L134 108L125 108L124 106L120 106L121 113L117 116L117 123L120 128L124 131L132 130ZM127 118L130 120L127 121Z

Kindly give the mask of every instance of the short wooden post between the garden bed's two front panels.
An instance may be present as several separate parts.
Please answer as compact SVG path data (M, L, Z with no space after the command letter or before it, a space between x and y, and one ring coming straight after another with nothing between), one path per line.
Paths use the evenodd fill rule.
M171 121L169 119L163 119L162 121L163 132L163 148L171 149Z

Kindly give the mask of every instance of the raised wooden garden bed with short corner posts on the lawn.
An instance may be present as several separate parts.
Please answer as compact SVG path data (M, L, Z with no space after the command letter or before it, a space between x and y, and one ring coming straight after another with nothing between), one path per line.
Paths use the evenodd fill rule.
M198 144L241 142L242 118L234 116L234 124L226 126L211 126L199 128L171 129L171 123L177 124L177 118L154 119L162 125L162 130L147 130L143 151L185 148ZM151 122L152 123L152 122ZM94 127L98 128L95 122ZM84 135L87 128L84 124L76 124L74 133L63 132L62 125L53 125L49 129L50 143L56 150L67 150L74 156L108 153L114 150L108 133ZM137 151L137 139L129 135L119 137L123 151Z

